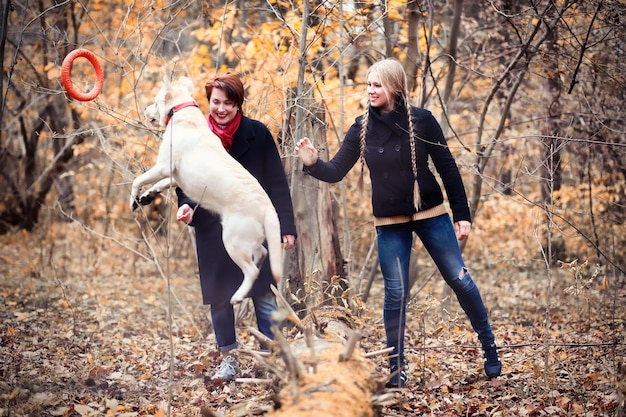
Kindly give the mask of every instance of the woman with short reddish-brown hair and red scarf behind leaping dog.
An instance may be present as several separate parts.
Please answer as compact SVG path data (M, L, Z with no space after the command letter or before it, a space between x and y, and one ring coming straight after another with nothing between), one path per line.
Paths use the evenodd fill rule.
M217 75L207 82L205 89L209 100L207 122L211 130L231 156L259 181L278 212L285 249L293 248L296 227L291 196L272 134L263 123L244 116L244 87L237 75ZM230 381L239 372L232 352L238 342L230 298L243 281L243 273L224 249L219 216L197 206L184 190L178 188L176 193L178 220L195 228L202 300L210 305L213 331L222 353L222 361L211 379ZM259 330L270 339L273 339L270 316L276 309L276 299L270 290L273 282L266 258L249 297L254 304Z

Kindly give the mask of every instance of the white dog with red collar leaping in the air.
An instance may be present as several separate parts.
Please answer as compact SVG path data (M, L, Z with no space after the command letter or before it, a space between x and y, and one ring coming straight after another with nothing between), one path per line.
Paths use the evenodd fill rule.
M154 104L144 114L164 126L165 133L156 165L133 181L131 209L149 204L161 191L178 185L189 198L221 217L226 252L244 274L232 304L248 295L268 250L272 275L279 282L282 245L276 209L256 178L226 152L209 128L193 100L191 80L180 77L170 83L165 77ZM154 185L138 198L146 184Z

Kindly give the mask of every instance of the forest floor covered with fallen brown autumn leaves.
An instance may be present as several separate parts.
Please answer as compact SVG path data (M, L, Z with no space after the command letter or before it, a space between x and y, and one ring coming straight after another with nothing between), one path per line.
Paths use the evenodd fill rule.
M210 381L219 359L190 245L163 260L163 245L129 247L63 224L1 236L0 247L0 417L271 415L276 386ZM151 250L163 274L138 255ZM503 360L491 381L458 303L442 314L441 280L418 282L409 385L385 397L375 384L386 398L376 415L623 416L624 277L550 274L472 265ZM381 299L377 282L360 313L366 352L385 346ZM256 349L251 316L241 316L240 341ZM239 359L243 377L268 376L253 357ZM371 378L384 382L384 356L371 360Z

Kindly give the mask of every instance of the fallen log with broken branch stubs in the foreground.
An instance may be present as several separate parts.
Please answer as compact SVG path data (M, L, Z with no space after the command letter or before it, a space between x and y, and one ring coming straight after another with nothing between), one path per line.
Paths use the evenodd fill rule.
M268 416L374 416L375 366L357 346L361 327L348 309L324 307L297 323L289 343L277 331L287 375Z

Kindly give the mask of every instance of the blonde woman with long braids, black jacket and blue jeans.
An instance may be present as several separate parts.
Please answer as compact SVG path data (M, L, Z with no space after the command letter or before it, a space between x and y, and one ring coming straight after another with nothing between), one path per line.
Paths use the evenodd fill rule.
M383 322L387 346L393 348L387 385L402 387L407 382L404 332L414 233L469 317L482 344L485 373L497 377L502 364L495 337L457 241L465 239L472 227L465 188L441 127L428 110L409 104L406 74L397 60L384 59L369 68L367 94L368 111L356 119L330 161L318 158L308 138L300 140L295 150L305 172L326 182L340 181L358 161L361 175L365 163L369 167L385 288ZM446 189L454 223L429 158Z

